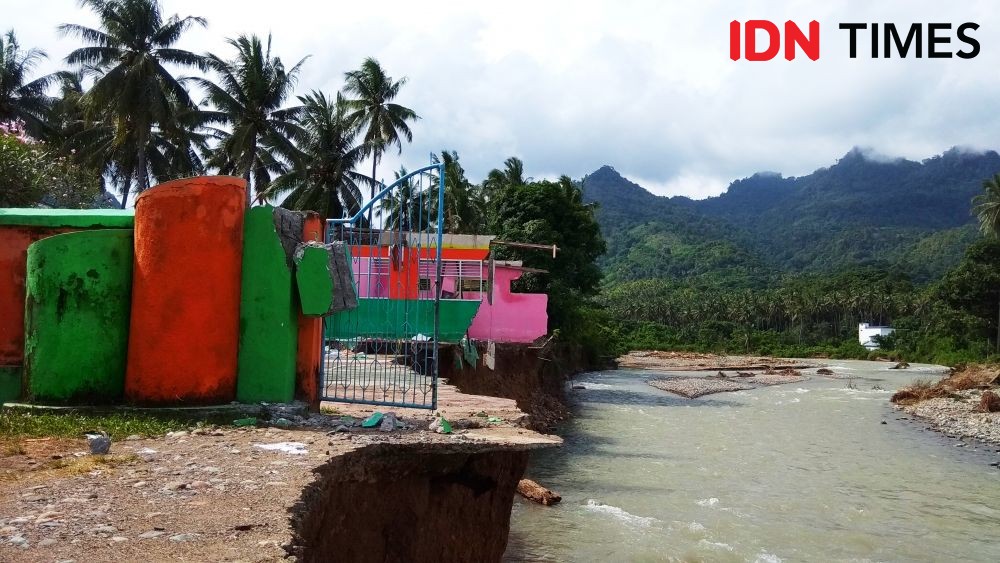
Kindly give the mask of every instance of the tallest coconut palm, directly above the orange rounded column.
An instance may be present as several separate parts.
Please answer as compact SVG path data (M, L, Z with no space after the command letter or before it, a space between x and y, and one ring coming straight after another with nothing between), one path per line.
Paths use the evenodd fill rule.
M206 70L205 59L178 48L197 17L164 18L159 2L144 0L82 0L100 20L97 29L67 23L62 35L86 46L66 57L66 63L94 73L93 85L80 97L88 121L70 139L92 165L122 181L134 180L135 191L149 187L149 177L177 177L197 172L192 152L198 142L184 122L195 104L168 65ZM122 209L128 190L122 192Z

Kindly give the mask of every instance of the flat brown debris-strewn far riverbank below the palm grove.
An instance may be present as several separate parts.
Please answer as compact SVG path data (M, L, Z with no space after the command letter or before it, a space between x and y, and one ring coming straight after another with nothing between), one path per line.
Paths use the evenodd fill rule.
M803 360L772 358L769 356L718 356L697 352L629 352L617 360L618 367L626 369L651 369L664 371L764 371L773 369L807 369L821 367L821 363Z

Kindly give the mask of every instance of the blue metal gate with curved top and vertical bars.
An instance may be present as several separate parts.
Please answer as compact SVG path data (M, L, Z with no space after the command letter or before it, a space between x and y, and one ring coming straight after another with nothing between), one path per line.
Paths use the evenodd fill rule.
M443 216L439 163L327 221L327 243L347 246L358 307L324 320L323 400L437 408Z

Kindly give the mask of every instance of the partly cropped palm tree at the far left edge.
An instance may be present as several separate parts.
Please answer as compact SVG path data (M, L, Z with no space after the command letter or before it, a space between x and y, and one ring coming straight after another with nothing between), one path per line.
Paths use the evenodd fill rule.
M13 29L0 36L0 122L20 121L33 137L46 129L50 99L45 91L55 75L30 82L28 76L45 58L40 49L22 50Z

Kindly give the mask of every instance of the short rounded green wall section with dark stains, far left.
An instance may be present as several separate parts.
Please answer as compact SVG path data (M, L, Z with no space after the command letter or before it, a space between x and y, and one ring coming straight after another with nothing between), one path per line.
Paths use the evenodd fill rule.
M121 400L132 231L67 233L28 247L24 380L40 403Z

